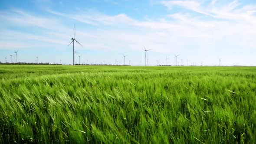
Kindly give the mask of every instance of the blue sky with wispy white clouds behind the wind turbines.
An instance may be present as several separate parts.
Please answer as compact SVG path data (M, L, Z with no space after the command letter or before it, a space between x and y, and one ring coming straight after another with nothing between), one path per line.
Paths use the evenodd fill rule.
M256 65L255 0L2 0L0 61Z

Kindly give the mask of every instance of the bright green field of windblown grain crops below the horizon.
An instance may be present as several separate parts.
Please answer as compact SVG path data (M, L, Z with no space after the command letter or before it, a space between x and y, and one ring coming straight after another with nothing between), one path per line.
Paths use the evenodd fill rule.
M256 143L256 67L0 65L0 143Z

